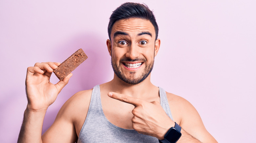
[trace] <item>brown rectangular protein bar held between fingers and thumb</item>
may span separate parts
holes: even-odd
[[[63,80],[71,71],[74,71],[88,57],[82,49],[77,50],[73,55],[62,62],[57,69],[53,70],[59,80]]]

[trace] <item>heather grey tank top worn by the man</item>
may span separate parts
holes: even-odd
[[[173,120],[166,97],[166,92],[159,87],[160,104]],[[100,88],[93,88],[89,110],[80,131],[78,143],[158,143],[153,136],[139,134],[135,130],[117,127],[105,117],[100,100]]]

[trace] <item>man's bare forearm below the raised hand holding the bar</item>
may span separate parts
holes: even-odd
[[[27,108],[25,110],[18,143],[42,142],[41,136],[45,113],[46,109],[32,111]]]

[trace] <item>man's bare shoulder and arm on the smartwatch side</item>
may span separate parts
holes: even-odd
[[[181,138],[177,143],[198,142],[217,143],[205,129],[203,121],[195,107],[184,98],[166,92],[173,119],[181,126]]]

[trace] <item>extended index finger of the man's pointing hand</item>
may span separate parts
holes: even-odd
[[[116,92],[109,92],[108,96],[113,98],[113,99],[117,99],[121,102],[132,104],[135,107],[144,102],[143,99],[127,96],[127,95],[124,95],[124,94],[119,94],[119,93],[116,93]]]

